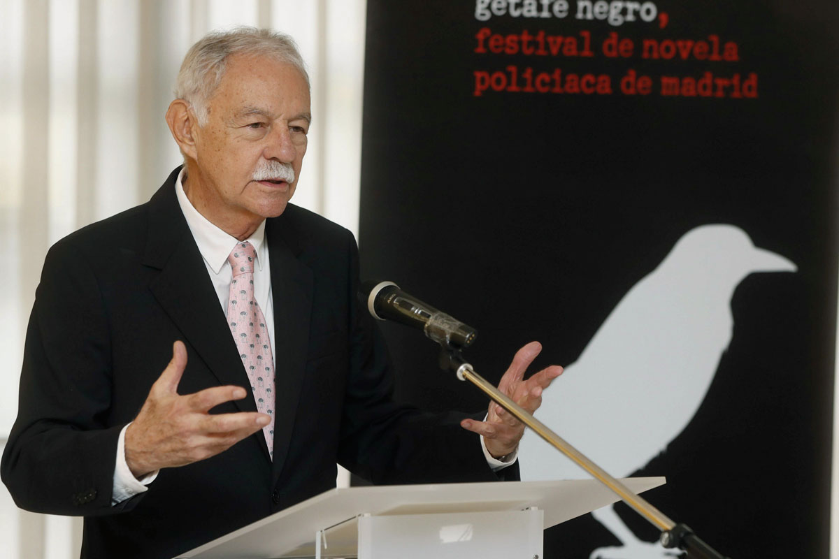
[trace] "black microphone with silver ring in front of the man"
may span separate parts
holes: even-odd
[[[363,282],[358,295],[373,318],[421,329],[427,338],[441,345],[465,348],[477,336],[471,326],[412,297],[393,282]]]

